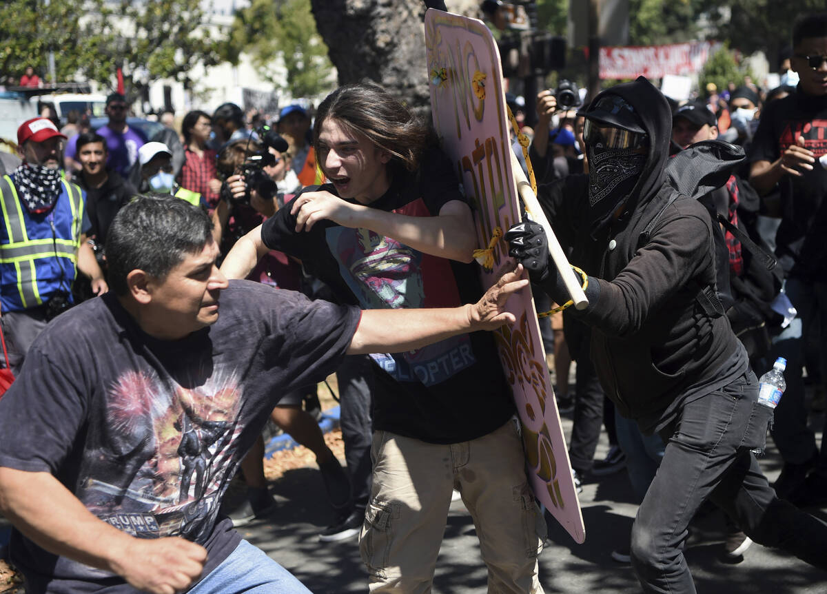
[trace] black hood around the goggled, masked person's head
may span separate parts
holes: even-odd
[[[605,95],[619,95],[624,98],[624,101],[634,108],[643,130],[649,137],[646,164],[643,165],[638,183],[634,185],[629,199],[626,200],[625,210],[633,211],[652,200],[663,184],[663,170],[669,159],[669,143],[672,141],[672,109],[669,108],[663,93],[643,76],[638,76],[638,79],[631,83],[618,84],[598,93],[590,103],[590,108]],[[586,117],[588,111],[589,109],[586,109],[584,112]],[[608,213],[601,220],[595,221],[592,232],[604,227],[611,218],[612,213]]]

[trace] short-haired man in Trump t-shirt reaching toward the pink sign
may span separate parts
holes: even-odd
[[[361,312],[228,283],[207,214],[171,196],[122,208],[107,254],[113,292],[50,323],[0,401],[0,511],[26,592],[307,594],[218,517],[280,395],[346,353],[513,323],[504,302],[527,284],[517,270],[474,305]]]

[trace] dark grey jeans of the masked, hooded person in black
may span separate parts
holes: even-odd
[[[632,527],[643,592],[696,592],[683,547],[700,505],[713,501],[755,542],[827,568],[827,525],[781,501],[750,452],[762,447],[770,410],[752,371],[681,407],[660,432],[667,443]]]

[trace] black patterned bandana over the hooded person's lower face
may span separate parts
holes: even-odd
[[[646,155],[632,149],[602,149],[587,146],[589,154],[589,204],[604,212],[624,199],[638,182]],[[604,204],[607,197],[609,200]]]

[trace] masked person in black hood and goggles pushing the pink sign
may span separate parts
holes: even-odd
[[[756,542],[827,568],[827,526],[778,500],[750,453],[763,447],[772,413],[758,405],[758,382],[720,307],[713,221],[693,198],[723,185],[743,151],[700,142],[667,167],[672,115],[643,77],[600,93],[582,114],[589,174],[542,186],[539,198],[587,276],[589,305],[572,314],[591,327],[606,395],[667,443],[632,529],[644,592],[696,592],[682,549],[707,499]],[[521,223],[506,239],[533,282],[566,302],[542,228]]]

